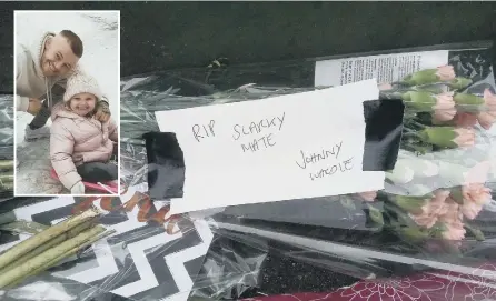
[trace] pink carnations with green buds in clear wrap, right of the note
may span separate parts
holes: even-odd
[[[492,201],[486,131],[496,121],[496,96],[463,92],[470,83],[443,66],[379,84],[383,99],[406,106],[400,151],[385,190],[360,195],[384,202],[381,211],[371,207],[371,219],[403,239],[443,245],[466,235],[484,239],[472,221]]]

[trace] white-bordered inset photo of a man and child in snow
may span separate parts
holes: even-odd
[[[14,11],[16,195],[119,193],[119,11]]]

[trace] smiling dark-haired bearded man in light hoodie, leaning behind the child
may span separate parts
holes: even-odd
[[[44,126],[50,109],[61,100],[67,78],[82,71],[79,67],[82,41],[70,30],[47,32],[31,46],[19,44],[17,52],[16,108],[34,116],[26,128],[24,139],[48,138],[50,129]],[[109,103],[103,98],[98,102],[97,118],[105,122],[109,117]]]

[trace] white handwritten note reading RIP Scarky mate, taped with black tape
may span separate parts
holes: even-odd
[[[378,190],[384,172],[363,171],[363,101],[376,80],[268,99],[156,112],[185,157],[182,213]]]

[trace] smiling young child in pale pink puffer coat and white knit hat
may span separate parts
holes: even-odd
[[[60,182],[71,194],[85,194],[82,181],[98,183],[118,180],[118,130],[110,118],[95,118],[102,93],[97,81],[78,72],[67,82],[63,103],[52,109],[50,160]]]

